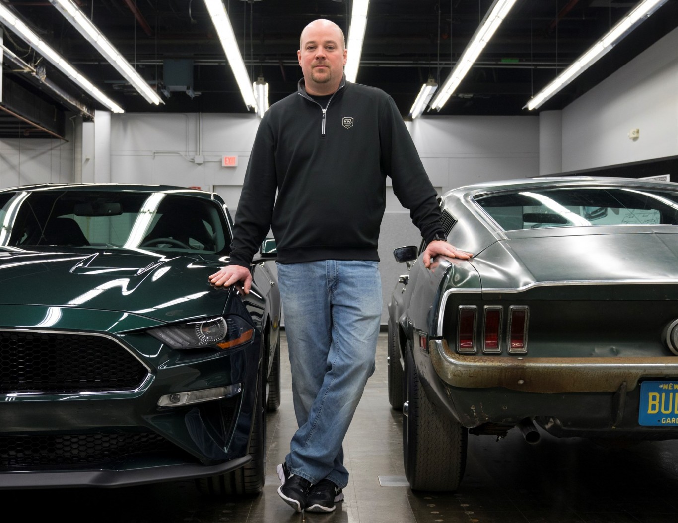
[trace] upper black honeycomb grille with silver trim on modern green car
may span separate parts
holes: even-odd
[[[0,394],[78,394],[140,388],[148,369],[114,339],[0,331]]]

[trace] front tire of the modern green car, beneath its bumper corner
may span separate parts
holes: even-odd
[[[260,377],[261,375],[262,373],[260,373]],[[259,390],[261,389],[262,387],[259,387]],[[195,480],[201,493],[215,496],[243,496],[258,494],[264,488],[266,477],[266,413],[264,413],[261,392],[257,394],[254,409],[252,437],[249,447],[252,461],[232,472]]]

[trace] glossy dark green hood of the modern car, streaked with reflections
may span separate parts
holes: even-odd
[[[0,304],[116,310],[174,322],[222,314],[223,262],[151,252],[0,251]]]

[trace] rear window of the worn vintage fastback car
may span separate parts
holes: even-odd
[[[476,196],[504,230],[678,225],[678,192],[633,187],[530,188]]]

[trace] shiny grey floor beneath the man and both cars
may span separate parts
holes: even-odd
[[[401,415],[386,394],[386,335],[377,370],[344,442],[351,482],[332,514],[296,514],[277,495],[275,466],[296,429],[287,347],[283,394],[268,415],[268,475],[261,495],[210,499],[193,482],[113,490],[0,491],[7,520],[322,523],[669,523],[678,521],[678,441],[603,448],[542,434],[528,445],[517,431],[496,442],[470,436],[468,463],[455,494],[413,493],[402,463]],[[15,516],[11,516],[14,513]],[[21,514],[21,516],[19,516]]]

